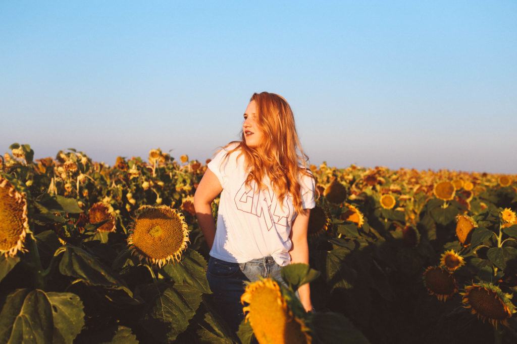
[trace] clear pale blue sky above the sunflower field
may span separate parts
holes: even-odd
[[[311,163],[517,173],[517,2],[0,1],[0,152],[204,162],[261,91]]]

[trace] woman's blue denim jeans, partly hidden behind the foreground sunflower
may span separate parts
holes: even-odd
[[[230,325],[231,331],[236,333],[239,324],[244,319],[240,297],[244,293],[246,285],[244,281],[258,281],[259,277],[272,277],[287,287],[287,283],[280,274],[281,266],[272,256],[252,259],[246,263],[231,263],[210,256],[206,278],[212,301],[219,311],[220,316]],[[300,299],[298,290],[296,297]]]

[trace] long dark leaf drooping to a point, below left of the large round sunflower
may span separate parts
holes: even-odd
[[[63,250],[63,258],[59,263],[59,271],[62,274],[75,277],[89,285],[121,289],[130,297],[133,296],[132,291],[126,284],[119,280],[110,268],[101,264],[93,255],[71,245],[67,245]]]

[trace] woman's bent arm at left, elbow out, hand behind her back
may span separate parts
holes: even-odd
[[[208,249],[212,249],[216,236],[216,224],[212,215],[212,201],[223,190],[219,179],[210,169],[206,169],[194,193],[194,209],[197,222],[205,236]]]

